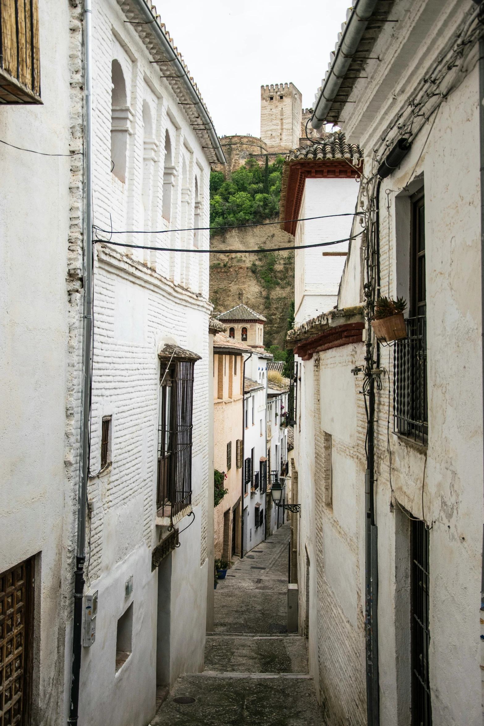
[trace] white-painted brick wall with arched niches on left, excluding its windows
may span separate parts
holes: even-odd
[[[115,231],[193,227],[198,192],[200,227],[206,227],[210,164],[179,99],[160,80],[136,28],[125,19],[110,0],[94,7],[94,219],[104,229],[112,223]],[[124,183],[110,171],[113,59],[123,70],[129,109]],[[167,132],[173,167],[169,221],[162,214]],[[113,241],[194,248],[193,235],[181,232],[113,235]],[[208,246],[208,234],[200,232],[197,241]],[[94,510],[87,525],[86,592],[98,590],[99,605],[96,642],[83,648],[79,706],[80,720],[93,725],[145,726],[155,714],[157,670],[158,685],[160,678],[163,685],[173,685],[180,674],[203,667],[208,560],[213,558],[208,543],[209,536],[213,541],[208,501],[209,470],[213,477],[208,374],[213,370],[207,295],[208,256],[97,245],[89,481]],[[180,547],[152,572],[152,549],[161,534],[156,513],[158,353],[165,343],[201,356],[194,364],[194,520],[184,517],[176,523]],[[106,415],[112,417],[112,464],[98,474]],[[210,492],[213,497],[212,487]],[[134,590],[125,598],[131,574]],[[116,673],[117,622],[131,600],[132,652]]]

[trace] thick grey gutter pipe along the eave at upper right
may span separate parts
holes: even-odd
[[[331,110],[333,102],[340,90],[346,71],[350,67],[353,56],[358,49],[363,33],[366,30],[369,19],[372,17],[378,0],[357,0],[351,11],[348,22],[343,30],[340,44],[337,46],[335,60],[332,62],[329,73],[324,81],[321,93],[319,94],[314,113],[311,116],[313,129],[321,129],[326,117]]]

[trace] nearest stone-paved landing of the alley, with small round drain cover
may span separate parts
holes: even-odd
[[[151,726],[324,726],[307,676],[182,676]],[[191,696],[194,703],[173,703]]]

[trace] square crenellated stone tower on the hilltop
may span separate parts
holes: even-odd
[[[294,83],[261,86],[261,139],[268,150],[298,147],[302,107],[303,97]]]

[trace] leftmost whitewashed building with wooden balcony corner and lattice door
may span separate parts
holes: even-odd
[[[65,723],[78,481],[66,468],[73,417],[68,314],[81,286],[68,247],[82,234],[80,210],[70,205],[83,168],[70,95],[81,48],[80,33],[69,30],[71,12],[54,0],[40,8],[1,4],[2,724]]]

